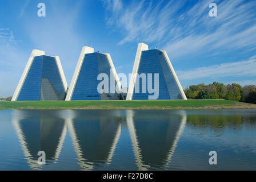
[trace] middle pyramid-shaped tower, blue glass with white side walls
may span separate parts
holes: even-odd
[[[104,93],[98,91],[98,84],[102,81],[98,80],[98,76],[101,73],[107,75],[109,84],[109,89],[105,88],[106,92]],[[118,92],[115,92],[116,87]],[[67,92],[66,101],[123,100],[119,90],[121,90],[121,84],[110,54],[94,52],[94,48],[83,47]]]

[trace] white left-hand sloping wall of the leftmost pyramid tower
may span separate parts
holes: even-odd
[[[29,57],[29,60],[27,61],[27,65],[22,73],[21,79],[19,80],[19,83],[17,85],[17,88],[15,89],[15,92],[13,94],[13,98],[11,98],[11,101],[17,101],[17,98],[19,96],[19,92],[21,92],[21,88],[24,84],[24,81],[26,80],[27,77],[27,73],[29,72],[29,69],[34,61],[34,57],[35,56],[43,56],[45,55],[45,51],[41,51],[38,49],[33,49],[33,51],[31,52],[31,55]]]

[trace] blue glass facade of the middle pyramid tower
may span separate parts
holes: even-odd
[[[83,58],[71,100],[119,100],[119,94],[110,93],[110,69],[106,55],[98,52],[87,53]],[[109,93],[98,93],[97,86],[101,81],[97,77],[100,73],[109,76]]]

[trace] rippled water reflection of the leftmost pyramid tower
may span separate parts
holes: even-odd
[[[38,151],[45,151],[47,162],[57,160],[61,152],[66,122],[54,112],[14,110],[13,125],[31,169],[41,168]]]

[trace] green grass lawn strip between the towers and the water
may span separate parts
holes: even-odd
[[[0,109],[256,109],[256,105],[226,100],[2,101]]]

